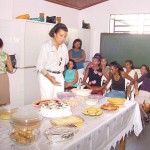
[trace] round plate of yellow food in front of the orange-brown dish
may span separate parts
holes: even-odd
[[[103,113],[103,111],[98,107],[91,106],[91,107],[87,107],[86,109],[84,109],[82,113],[84,115],[89,115],[89,116],[99,116]]]

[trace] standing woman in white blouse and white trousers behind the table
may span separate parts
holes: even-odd
[[[62,23],[56,24],[49,35],[51,40],[42,45],[37,69],[41,99],[55,98],[58,92],[64,91],[64,66],[68,63],[68,50],[64,41],[68,29]]]

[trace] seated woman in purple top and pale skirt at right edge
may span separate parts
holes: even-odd
[[[142,82],[143,81],[143,82]],[[138,89],[138,83],[142,82],[140,90]],[[150,72],[143,74],[136,82],[135,87],[135,100],[140,104],[140,108],[142,110],[142,114],[146,119],[148,119],[148,115],[144,112],[143,103],[147,103],[148,111],[150,111]]]

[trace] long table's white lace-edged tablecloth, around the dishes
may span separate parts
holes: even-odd
[[[106,101],[107,98],[101,99],[97,106],[101,106]],[[48,118],[42,120],[39,140],[29,146],[14,144],[8,136],[9,122],[0,120],[0,150],[109,150],[130,131],[133,130],[136,136],[142,131],[140,110],[135,101],[126,101],[116,111],[103,110],[100,116],[82,114],[86,107],[82,104],[72,109],[73,115],[78,115],[85,121],[75,136],[71,140],[53,144],[50,144],[44,135],[44,131],[52,126]],[[23,108],[28,110],[33,109],[34,106],[28,105]]]

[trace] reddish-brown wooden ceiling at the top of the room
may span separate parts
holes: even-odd
[[[81,10],[108,0],[46,0],[46,1]]]

